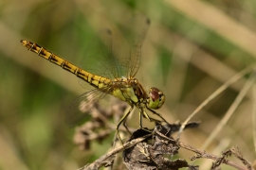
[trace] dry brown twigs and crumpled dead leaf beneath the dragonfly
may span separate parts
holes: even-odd
[[[194,124],[191,124],[191,126],[192,125],[194,126]],[[99,169],[102,166],[111,166],[113,165],[113,162],[116,158],[116,154],[122,152],[123,150],[123,161],[126,164],[126,167],[132,167],[132,169],[134,167],[136,167],[134,169],[137,169],[137,167],[157,167],[158,169],[166,169],[167,167],[169,169],[174,169],[177,167],[197,167],[190,165],[186,160],[168,160],[163,157],[163,155],[166,154],[174,156],[175,154],[178,153],[178,149],[180,147],[190,150],[196,154],[191,158],[192,161],[197,159],[213,160],[214,162],[211,167],[212,169],[219,167],[221,164],[224,163],[239,170],[253,169],[250,163],[246,159],[244,159],[243,154],[242,152],[239,151],[238,147],[232,147],[231,149],[222,152],[222,155],[218,157],[204,150],[199,150],[195,147],[192,147],[189,144],[184,144],[177,140],[174,140],[173,137],[169,137],[169,135],[172,135],[176,130],[179,129],[178,127],[179,125],[172,125],[171,127],[165,128],[159,124],[156,125],[152,133],[146,133],[147,135],[141,137],[138,136],[143,134],[143,130],[137,129],[137,131],[134,132],[133,136],[138,138],[135,138],[133,140],[131,139],[131,141],[128,141],[123,145],[117,146],[113,150],[101,156],[101,158],[98,159],[97,161],[87,164],[80,168],[79,170],[93,170]],[[151,140],[145,141],[146,139],[154,139],[154,142],[151,143]],[[227,158],[230,157],[231,155],[234,155],[246,166],[240,165],[237,162],[229,161]],[[152,162],[155,162],[155,164]]]

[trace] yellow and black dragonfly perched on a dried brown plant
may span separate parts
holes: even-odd
[[[135,24],[136,23],[136,24]],[[137,26],[138,23],[138,26]],[[149,121],[155,121],[150,117],[147,110],[157,115],[161,121],[168,122],[155,110],[160,109],[165,102],[165,95],[159,89],[152,87],[146,93],[137,78],[137,71],[141,59],[141,45],[150,25],[148,18],[142,18],[139,22],[134,19],[120,30],[114,32],[111,29],[101,31],[101,40],[96,41],[99,50],[88,54],[82,61],[82,66],[76,66],[66,59],[53,54],[46,48],[34,42],[21,40],[22,45],[28,51],[36,53],[38,56],[61,66],[64,70],[76,75],[80,79],[80,84],[89,90],[78,96],[68,109],[68,122],[76,123],[86,114],[81,110],[82,104],[86,105],[88,100],[99,101],[106,94],[112,94],[120,100],[130,105],[128,112],[120,118],[116,127],[119,136],[119,126],[126,126],[126,119],[132,110],[139,110],[139,127],[142,128],[142,116]],[[123,38],[119,33],[128,35]],[[89,52],[88,52],[89,53]],[[131,132],[130,132],[131,133]],[[120,136],[119,136],[119,140]],[[122,141],[121,141],[122,142]]]

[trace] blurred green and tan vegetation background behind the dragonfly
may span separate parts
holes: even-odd
[[[210,93],[256,59],[256,2],[252,0],[2,0],[0,2],[0,169],[76,169],[101,156],[108,143],[81,151],[64,112],[84,89],[76,76],[37,57],[20,40],[37,42],[79,64],[97,30],[115,16],[137,10],[151,19],[137,78],[145,89],[167,96],[159,110],[170,122],[184,121]],[[225,115],[246,78],[217,96],[192,120],[198,129],[181,141],[199,148]],[[249,91],[228,124],[206,150],[238,145],[255,159]],[[192,152],[180,150],[179,158]],[[210,161],[200,160],[200,169]],[[230,167],[223,167],[230,169]]]

